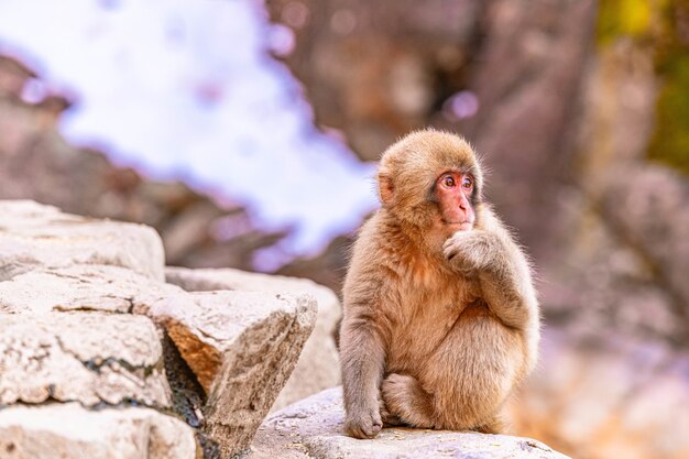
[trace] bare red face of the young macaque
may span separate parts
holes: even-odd
[[[451,231],[473,228],[475,212],[471,206],[473,176],[460,172],[446,172],[436,182],[436,198],[440,205],[442,223]]]

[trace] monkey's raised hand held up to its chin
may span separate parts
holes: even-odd
[[[496,267],[506,252],[497,234],[483,230],[457,231],[445,242],[442,250],[450,264],[466,275]]]

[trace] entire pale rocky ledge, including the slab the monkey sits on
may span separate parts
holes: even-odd
[[[0,201],[0,458],[562,458],[472,433],[344,437],[340,391],[318,393],[339,383],[339,314],[310,281],[166,269],[145,226]]]

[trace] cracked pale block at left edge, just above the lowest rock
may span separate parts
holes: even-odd
[[[0,404],[169,406],[161,342],[145,317],[0,315]]]

